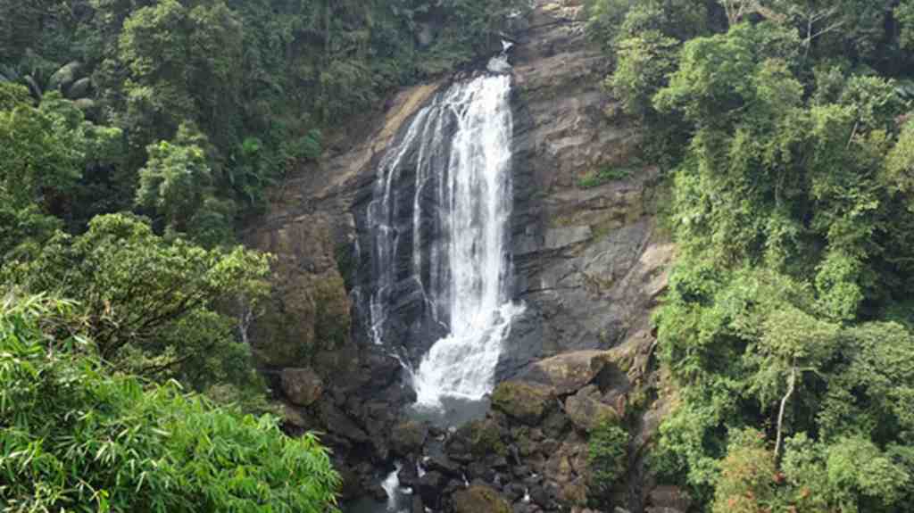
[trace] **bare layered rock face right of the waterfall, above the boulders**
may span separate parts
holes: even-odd
[[[537,4],[515,54],[515,296],[528,309],[503,377],[544,355],[620,343],[672,256],[654,222],[659,172],[639,161],[637,127],[611,116],[610,63],[586,41],[581,3]],[[605,168],[629,178],[584,187]]]

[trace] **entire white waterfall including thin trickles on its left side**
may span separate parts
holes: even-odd
[[[490,69],[504,70],[506,58],[497,59]],[[418,368],[408,364],[422,405],[491,392],[502,340],[522,308],[510,298],[510,92],[507,74],[452,85],[413,117],[378,165],[367,209],[369,329],[377,344],[402,342],[404,330],[395,335],[393,327],[403,324],[444,333]],[[422,310],[415,319],[398,319],[413,311],[392,306],[404,296],[421,305],[412,307]]]

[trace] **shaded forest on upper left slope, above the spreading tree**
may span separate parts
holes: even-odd
[[[0,192],[73,231],[135,207],[157,230],[230,242],[271,184],[321,155],[325,131],[490,54],[524,4],[3,0]]]

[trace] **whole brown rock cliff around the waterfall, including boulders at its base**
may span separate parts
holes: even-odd
[[[499,381],[509,381],[485,420],[455,434],[404,422],[398,407],[411,395],[399,362],[368,342],[358,311],[359,215],[375,167],[450,79],[400,91],[383,113],[335,134],[324,161],[283,183],[246,236],[276,256],[254,350],[286,402],[289,430],[328,433],[350,496],[383,497],[377,469],[395,456],[417,461],[437,441],[440,468],[421,482],[414,466],[400,471],[401,483],[416,484],[420,508],[466,510],[492,494],[494,510],[505,500],[531,513],[584,506],[588,429],[608,415],[634,434],[630,486],[615,491],[616,503],[650,504],[639,469],[664,404],[645,392],[656,379],[649,315],[674,250],[654,216],[659,173],[640,162],[637,129],[611,116],[601,88],[610,63],[588,43],[579,2],[535,4],[512,34],[514,294],[527,309],[499,363]],[[635,395],[637,407],[627,406]],[[454,496],[463,475],[473,487]],[[422,490],[436,504],[423,506]]]

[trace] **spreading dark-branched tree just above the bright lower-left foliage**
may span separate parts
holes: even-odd
[[[268,257],[255,252],[207,250],[156,236],[130,215],[101,215],[86,234],[55,236],[35,260],[7,267],[5,277],[79,301],[105,361],[205,390],[222,380],[256,384],[252,367],[239,366],[250,348],[239,345],[236,320],[224,312],[239,300],[256,305],[268,272]]]

